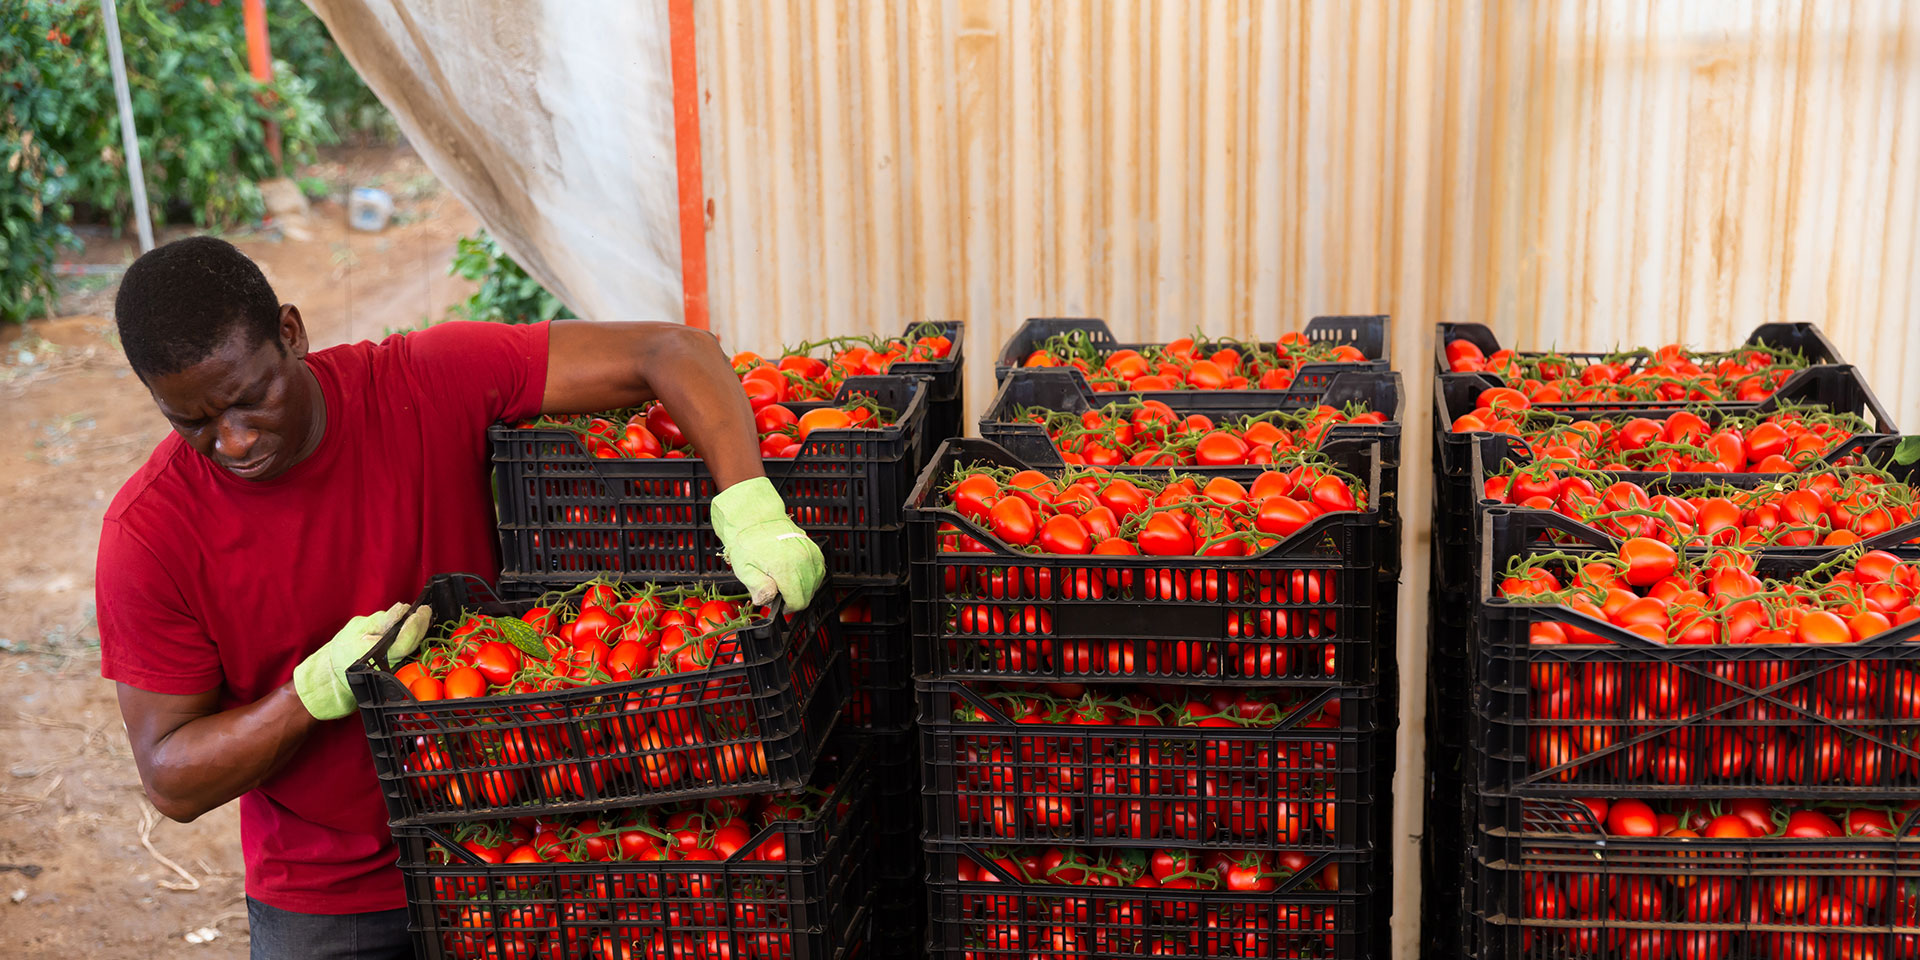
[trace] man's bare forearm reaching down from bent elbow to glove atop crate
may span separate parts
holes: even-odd
[[[653,394],[666,403],[720,490],[766,476],[753,405],[714,338],[662,336],[645,371]]]

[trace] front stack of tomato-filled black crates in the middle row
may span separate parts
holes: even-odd
[[[931,956],[1384,943],[1379,445],[1323,445],[1357,509],[1221,555],[1173,555],[1175,499],[1098,553],[1073,541],[1064,516],[1133,516],[1144,474],[1089,490],[991,442],[935,455],[908,503]]]

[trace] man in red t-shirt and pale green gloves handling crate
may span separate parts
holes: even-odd
[[[432,574],[497,576],[488,424],[660,399],[741,582],[804,607],[826,572],[701,330],[449,323],[309,353],[300,309],[215,238],[134,261],[115,313],[173,436],[100,532],[100,672],[159,812],[240,799],[255,960],[413,952],[344,670]]]

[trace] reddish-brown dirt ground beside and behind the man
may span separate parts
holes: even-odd
[[[472,292],[447,263],[478,223],[411,152],[340,152],[303,173],[332,198],[348,184],[396,196],[378,234],[348,230],[336,200],[227,234],[300,305],[317,348],[440,319]],[[132,253],[100,232],[75,261]],[[100,678],[100,516],[167,426],[113,338],[113,276],[83,269],[69,286],[65,317],[0,328],[0,497],[13,505],[0,534],[0,956],[240,958],[238,812],[159,818]]]

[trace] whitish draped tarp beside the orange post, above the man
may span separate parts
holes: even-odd
[[[307,0],[426,165],[588,319],[682,319],[666,4]]]

